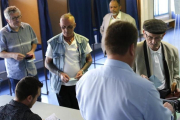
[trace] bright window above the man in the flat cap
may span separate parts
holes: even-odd
[[[161,16],[169,13],[169,0],[154,0],[154,16]]]

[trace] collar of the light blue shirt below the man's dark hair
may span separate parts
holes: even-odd
[[[104,65],[119,67],[133,72],[132,68],[125,62],[107,58]]]

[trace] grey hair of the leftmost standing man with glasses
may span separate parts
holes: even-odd
[[[10,20],[10,15],[12,13],[20,13],[21,14],[21,11],[16,7],[16,6],[10,6],[10,7],[7,7],[5,10],[4,10],[4,17],[8,20]]]

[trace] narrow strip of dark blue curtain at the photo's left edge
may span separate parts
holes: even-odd
[[[2,26],[6,26],[7,22],[6,19],[4,17],[4,10],[9,7],[9,3],[8,0],[1,0],[1,17],[2,17]]]

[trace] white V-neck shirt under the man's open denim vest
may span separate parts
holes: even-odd
[[[71,45],[69,45],[65,40],[63,41],[65,44],[65,62],[64,62],[63,72],[68,74],[70,78],[74,79],[78,71],[81,69],[79,64],[80,61],[79,61],[79,52],[77,49],[77,43],[75,39],[73,40]],[[87,55],[91,51],[92,49],[88,43],[85,50],[85,54]],[[48,44],[46,56],[52,58],[52,55],[53,55],[52,47],[50,44]],[[76,85],[76,83],[77,83],[76,80],[72,80],[69,81],[68,83],[62,83],[62,85],[73,86]]]

